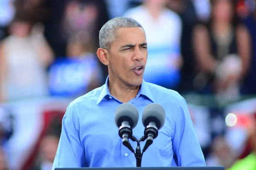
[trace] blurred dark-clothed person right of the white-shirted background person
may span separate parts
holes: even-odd
[[[195,54],[192,49],[192,33],[198,23],[195,5],[192,0],[169,0],[167,6],[180,15],[182,20],[182,33],[180,42],[183,65],[180,71],[179,93],[187,94],[195,91],[193,80],[195,78]]]

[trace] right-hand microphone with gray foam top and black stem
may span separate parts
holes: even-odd
[[[153,139],[158,136],[158,130],[163,127],[166,113],[164,108],[156,103],[151,103],[144,108],[142,123],[145,127],[144,136],[147,139],[142,152],[153,143]]]

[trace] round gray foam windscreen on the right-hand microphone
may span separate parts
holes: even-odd
[[[156,122],[156,127],[160,130],[165,122],[166,113],[164,108],[157,103],[146,105],[142,115],[142,123],[146,127],[149,122]]]

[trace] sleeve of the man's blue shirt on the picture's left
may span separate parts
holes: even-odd
[[[62,119],[61,137],[52,170],[56,167],[85,167],[84,147],[79,138],[79,119],[68,106]]]

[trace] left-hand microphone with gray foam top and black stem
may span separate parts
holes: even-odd
[[[116,108],[115,123],[119,128],[119,136],[122,138],[122,144],[134,152],[129,139],[132,138],[132,129],[137,125],[139,112],[131,103],[123,103]]]

